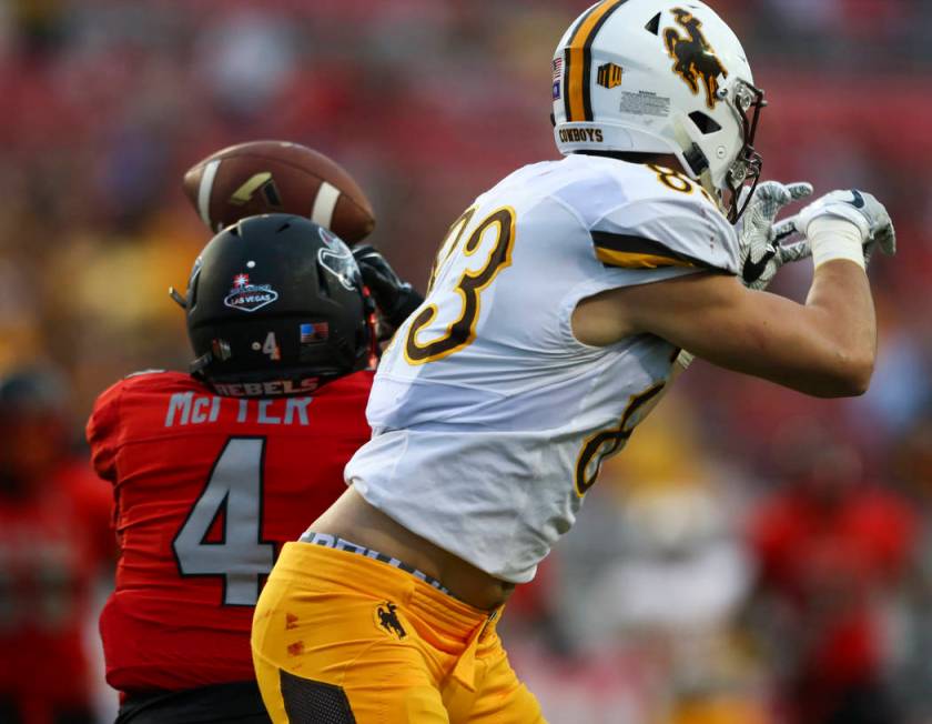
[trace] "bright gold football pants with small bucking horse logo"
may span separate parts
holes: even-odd
[[[275,724],[545,724],[494,614],[357,553],[287,543],[252,648]]]

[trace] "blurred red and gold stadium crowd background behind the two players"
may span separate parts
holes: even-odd
[[[870,190],[896,223],[899,255],[871,268],[874,382],[825,402],[697,363],[515,599],[506,643],[555,724],[932,722],[932,2],[709,1],[767,90],[764,175]],[[587,4],[0,0],[0,373],[63,371],[80,461],[101,390],[184,369],[165,290],[207,234],[181,174],[245,140],[343,163],[423,290],[450,220],[555,157],[550,57]],[[0,581],[38,543],[10,530]],[[65,583],[45,595],[89,582]],[[38,624],[11,591],[0,698],[50,665],[16,643]]]

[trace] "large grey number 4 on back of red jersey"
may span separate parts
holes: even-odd
[[[275,562],[275,546],[260,530],[264,452],[264,438],[227,440],[172,543],[181,575],[223,576],[226,605],[255,605],[260,579]],[[209,542],[221,515],[220,541]]]

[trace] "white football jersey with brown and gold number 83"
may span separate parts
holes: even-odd
[[[591,155],[516,171],[452,227],[382,358],[347,483],[478,569],[530,581],[678,352],[650,334],[582,344],[574,309],[702,270],[737,274],[738,239],[681,174]]]

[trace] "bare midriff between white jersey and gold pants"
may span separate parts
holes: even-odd
[[[311,525],[391,555],[437,579],[457,599],[476,609],[497,609],[515,590],[514,583],[496,579],[429,541],[412,533],[350,487]]]

